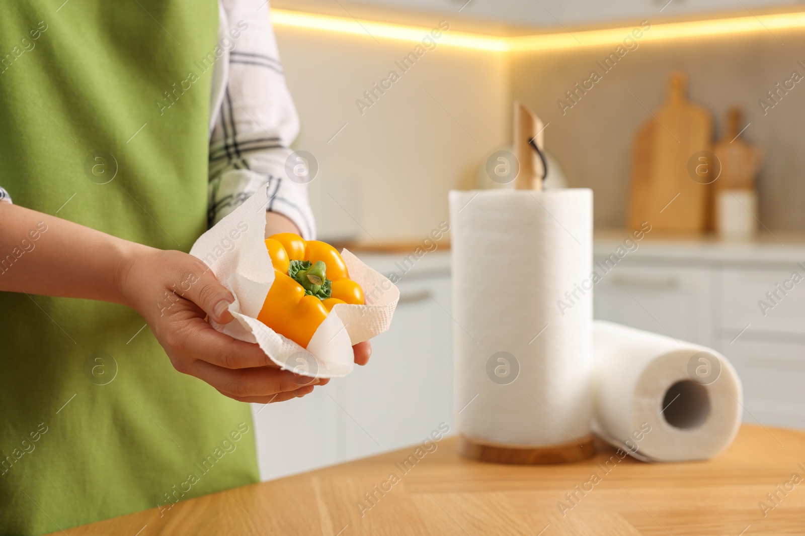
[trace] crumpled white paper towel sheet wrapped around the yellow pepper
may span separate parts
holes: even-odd
[[[213,269],[217,279],[235,296],[229,311],[235,320],[218,331],[246,342],[256,342],[271,361],[296,374],[337,378],[353,370],[353,344],[368,341],[389,329],[399,291],[390,280],[369,268],[352,253],[341,256],[349,277],[361,285],[366,305],[338,304],[316,329],[307,350],[258,321],[257,316],[274,282],[274,268],[265,243],[268,187],[221,219],[193,244],[190,254]]]

